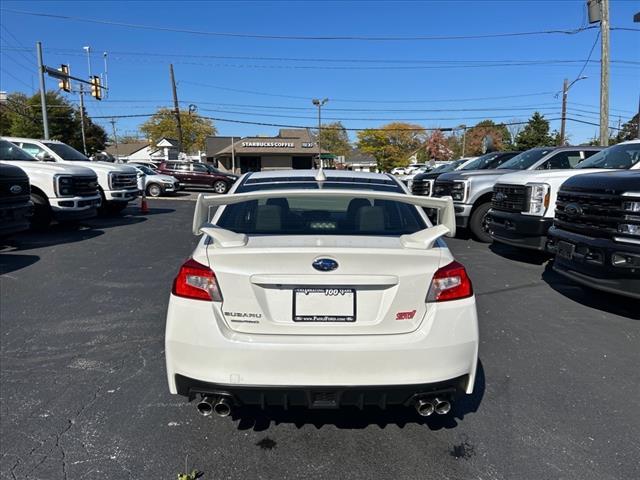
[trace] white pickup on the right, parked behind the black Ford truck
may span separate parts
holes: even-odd
[[[495,242],[546,250],[558,190],[569,178],[586,173],[640,169],[640,140],[602,150],[565,170],[526,170],[500,177],[493,187],[487,226]]]

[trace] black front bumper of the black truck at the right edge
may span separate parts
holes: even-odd
[[[547,250],[556,253],[560,241],[574,245],[575,251],[571,259],[556,255],[553,262],[556,272],[581,285],[640,299],[640,246],[551,227]],[[612,259],[616,254],[634,259],[638,267],[614,266]]]

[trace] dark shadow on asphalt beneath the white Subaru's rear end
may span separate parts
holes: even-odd
[[[381,410],[367,407],[359,410],[355,407],[340,410],[309,410],[306,408],[267,408],[261,410],[253,407],[242,407],[233,411],[232,418],[238,421],[238,430],[268,430],[271,424],[293,424],[297,428],[313,425],[321,428],[333,425],[341,429],[357,430],[370,425],[385,428],[396,425],[404,428],[407,424],[426,425],[430,430],[450,429],[458,426],[458,421],[469,413],[477,412],[485,391],[485,375],[482,362],[478,362],[476,383],[473,394],[462,395],[453,405],[452,413],[448,415],[433,414],[429,417],[419,416],[413,407],[389,407]]]

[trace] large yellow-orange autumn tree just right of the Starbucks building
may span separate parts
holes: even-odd
[[[407,164],[408,157],[425,141],[425,131],[420,125],[389,123],[379,129],[358,132],[357,147],[372,155],[378,169],[388,172]]]

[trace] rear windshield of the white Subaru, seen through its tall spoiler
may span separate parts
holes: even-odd
[[[217,225],[257,235],[398,236],[427,227],[413,205],[331,195],[274,197],[228,205]]]

